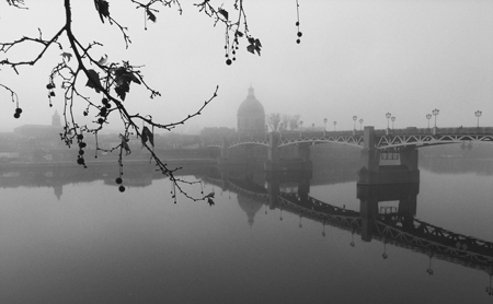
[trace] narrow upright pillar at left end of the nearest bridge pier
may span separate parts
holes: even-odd
[[[366,126],[363,132],[363,151],[358,172],[362,184],[371,184],[378,182],[378,172],[380,164],[380,151],[375,148],[375,129],[372,126]]]

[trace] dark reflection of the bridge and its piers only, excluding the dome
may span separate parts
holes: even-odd
[[[225,175],[223,175],[225,176]],[[275,176],[275,175],[274,175]],[[325,225],[359,234],[362,239],[411,249],[490,273],[493,267],[493,243],[458,234],[414,219],[419,184],[358,185],[360,210],[354,211],[325,203],[308,195],[307,182],[299,180],[297,194],[278,191],[278,180],[267,178],[267,188],[241,179],[206,178],[239,195],[250,197],[271,209],[279,209]],[[379,201],[398,200],[395,210],[378,210]],[[390,212],[389,212],[390,211]],[[324,234],[324,232],[323,232]],[[352,243],[353,244],[353,243]],[[383,253],[386,258],[387,254]],[[428,269],[431,272],[432,270]]]

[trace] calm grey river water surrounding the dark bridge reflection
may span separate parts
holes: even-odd
[[[358,211],[356,173],[328,166],[314,166],[309,195]],[[111,172],[1,176],[0,303],[493,303],[486,271],[364,242],[207,171],[182,178],[204,180],[211,207],[173,203],[164,178],[136,177],[119,194]],[[250,177],[265,185],[262,173]],[[492,242],[492,175],[422,166],[415,218]]]

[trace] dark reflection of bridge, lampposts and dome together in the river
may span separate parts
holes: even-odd
[[[383,243],[382,258],[387,259],[387,245],[419,253],[428,257],[426,272],[432,276],[433,259],[461,265],[489,274],[490,282],[486,292],[492,295],[493,276],[493,242],[463,235],[445,227],[426,223],[415,218],[417,195],[420,192],[419,176],[404,171],[382,171],[385,177],[380,183],[368,184],[365,173],[358,172],[356,196],[359,199],[359,210],[346,209],[316,199],[309,195],[311,171],[300,172],[254,172],[250,167],[243,169],[221,167],[216,176],[206,180],[220,185],[222,190],[236,192],[238,201],[248,214],[250,225],[262,207],[279,210],[299,217],[299,227],[302,219],[322,223],[322,235],[325,226],[337,227],[351,232],[351,246],[355,246],[354,235],[360,235],[362,241],[376,239]],[[419,175],[419,172],[417,172]],[[256,177],[256,178],[255,178]],[[381,182],[385,180],[385,182]],[[283,191],[283,184],[296,184],[296,191]],[[397,201],[397,206],[379,206],[380,202]],[[265,211],[266,213],[267,211]]]

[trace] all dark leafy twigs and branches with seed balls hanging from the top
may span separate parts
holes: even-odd
[[[31,84],[31,85],[44,85],[47,90],[47,96],[49,100],[49,106],[51,106],[51,98],[56,95],[55,89],[61,89],[64,92],[64,122],[61,130],[61,140],[68,147],[76,145],[79,149],[79,155],[77,162],[85,167],[84,148],[87,143],[84,138],[88,135],[93,135],[96,139],[96,150],[119,153],[119,176],[116,178],[116,183],[121,184],[119,190],[124,191],[123,186],[123,159],[124,155],[129,154],[128,141],[130,139],[138,138],[141,141],[144,148],[146,148],[151,160],[156,163],[158,168],[170,177],[174,186],[182,191],[181,183],[186,183],[174,177],[175,169],[170,169],[165,163],[163,163],[153,152],[153,129],[160,128],[164,130],[172,130],[179,125],[183,125],[193,117],[200,115],[203,109],[217,96],[218,86],[214,90],[211,96],[204,103],[204,105],[195,113],[192,113],[184,117],[180,121],[174,122],[161,122],[152,119],[151,115],[145,115],[140,113],[134,113],[128,109],[124,104],[126,96],[130,92],[130,85],[141,85],[149,92],[149,97],[154,98],[160,96],[160,93],[150,87],[145,81],[140,67],[131,65],[129,61],[113,62],[110,60],[112,56],[96,56],[95,49],[103,48],[103,44],[100,42],[85,42],[82,37],[78,36],[72,31],[72,7],[70,0],[64,1],[49,1],[47,5],[64,5],[65,22],[59,25],[59,30],[56,33],[44,33],[42,28],[38,30],[38,36],[28,37],[22,36],[16,40],[0,43],[0,54],[4,54],[0,57],[0,68],[8,67],[13,69],[19,74],[19,68],[24,66],[34,66],[43,59],[48,49],[58,48],[60,52],[59,62],[53,68],[48,75],[47,83]],[[131,40],[128,35],[128,28],[115,20],[111,14],[110,2],[106,0],[93,0],[93,3],[85,1],[88,5],[94,5],[95,14],[99,14],[101,24],[89,24],[93,27],[93,31],[98,31],[100,26],[116,26],[123,36],[126,47],[128,48]],[[26,9],[24,0],[7,0],[7,3],[15,9]],[[182,13],[182,7],[179,0],[128,0],[128,1],[113,1],[113,5],[129,4],[133,9],[141,10],[145,14],[145,27],[147,28],[147,22],[156,22],[158,5],[163,8],[175,8],[179,13]],[[229,12],[220,8],[214,8],[209,0],[195,3],[194,7],[202,13],[205,13],[214,21],[214,26],[221,24],[225,26],[226,36],[226,63],[231,65],[236,60],[237,50],[240,45],[240,39],[244,39],[246,44],[246,50],[260,55],[262,44],[259,38],[253,37],[248,27],[246,15],[243,8],[242,0],[234,0],[233,8],[236,16],[231,17]],[[2,11],[5,13],[15,13],[14,11]],[[47,19],[51,17],[50,14],[46,15]],[[25,20],[20,20],[25,22]],[[299,25],[299,23],[297,24]],[[5,32],[3,32],[5,31]],[[2,33],[7,33],[5,28],[2,28]],[[46,35],[47,34],[47,35]],[[46,37],[47,36],[47,37]],[[301,33],[298,33],[301,36]],[[0,34],[1,40],[1,34]],[[299,40],[298,40],[299,43]],[[14,55],[18,46],[32,44],[35,47],[39,47],[37,56],[34,58],[22,59],[9,59],[8,55]],[[15,54],[16,55],[16,54]],[[15,57],[18,58],[18,57]],[[0,70],[1,73],[1,70]],[[11,101],[15,104],[14,117],[20,118],[22,114],[21,101],[19,95],[11,85],[5,83],[4,78],[0,82],[0,87],[7,90],[11,96]],[[80,85],[82,84],[82,85]],[[88,86],[85,91],[82,90],[83,85]],[[93,91],[98,94],[99,98],[94,100],[88,96],[89,91]],[[58,92],[58,91],[57,91]],[[77,113],[73,113],[76,104],[83,104],[84,116],[94,117],[94,125],[83,125],[77,121]],[[111,149],[102,149],[102,145],[98,143],[98,133],[105,128],[110,121],[110,117],[118,117],[123,121],[123,130],[119,135],[119,144]],[[183,191],[182,191],[183,192]],[[188,197],[187,194],[183,192]],[[173,195],[174,197],[174,195]],[[190,197],[192,198],[192,197]],[[208,197],[202,197],[198,199],[206,199]],[[197,200],[196,198],[192,198]]]

